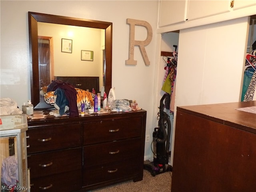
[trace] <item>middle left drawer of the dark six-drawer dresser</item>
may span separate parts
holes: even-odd
[[[29,155],[28,168],[31,178],[81,169],[82,148]]]

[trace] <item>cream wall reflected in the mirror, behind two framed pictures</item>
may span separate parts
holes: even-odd
[[[53,37],[54,76],[101,78],[101,31],[102,29],[38,22],[38,36]],[[61,51],[62,38],[72,40],[71,54]],[[81,50],[93,51],[93,61],[81,60]]]

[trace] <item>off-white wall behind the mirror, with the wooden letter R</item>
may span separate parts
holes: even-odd
[[[156,67],[156,28],[158,1],[0,1],[1,58],[0,98],[12,98],[21,107],[30,99],[30,60],[28,11],[113,23],[112,86],[117,99],[137,100],[147,110],[146,134],[152,135],[152,101]],[[145,66],[140,50],[134,49],[136,66],[126,66],[129,25],[126,19],[145,20],[152,26],[153,38],[146,46],[150,66]],[[146,28],[136,27],[136,40],[146,39]],[[150,143],[145,155],[152,156]]]

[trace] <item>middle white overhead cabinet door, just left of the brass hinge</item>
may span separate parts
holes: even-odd
[[[230,0],[190,0],[188,21],[229,12]]]

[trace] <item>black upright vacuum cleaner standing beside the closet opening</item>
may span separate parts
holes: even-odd
[[[153,132],[153,162],[144,163],[144,169],[148,170],[152,176],[161,174],[167,171],[172,171],[172,166],[169,162],[169,148],[171,135],[171,122],[169,115],[164,112],[164,99],[167,94],[164,94],[160,100],[158,127],[154,128]]]

